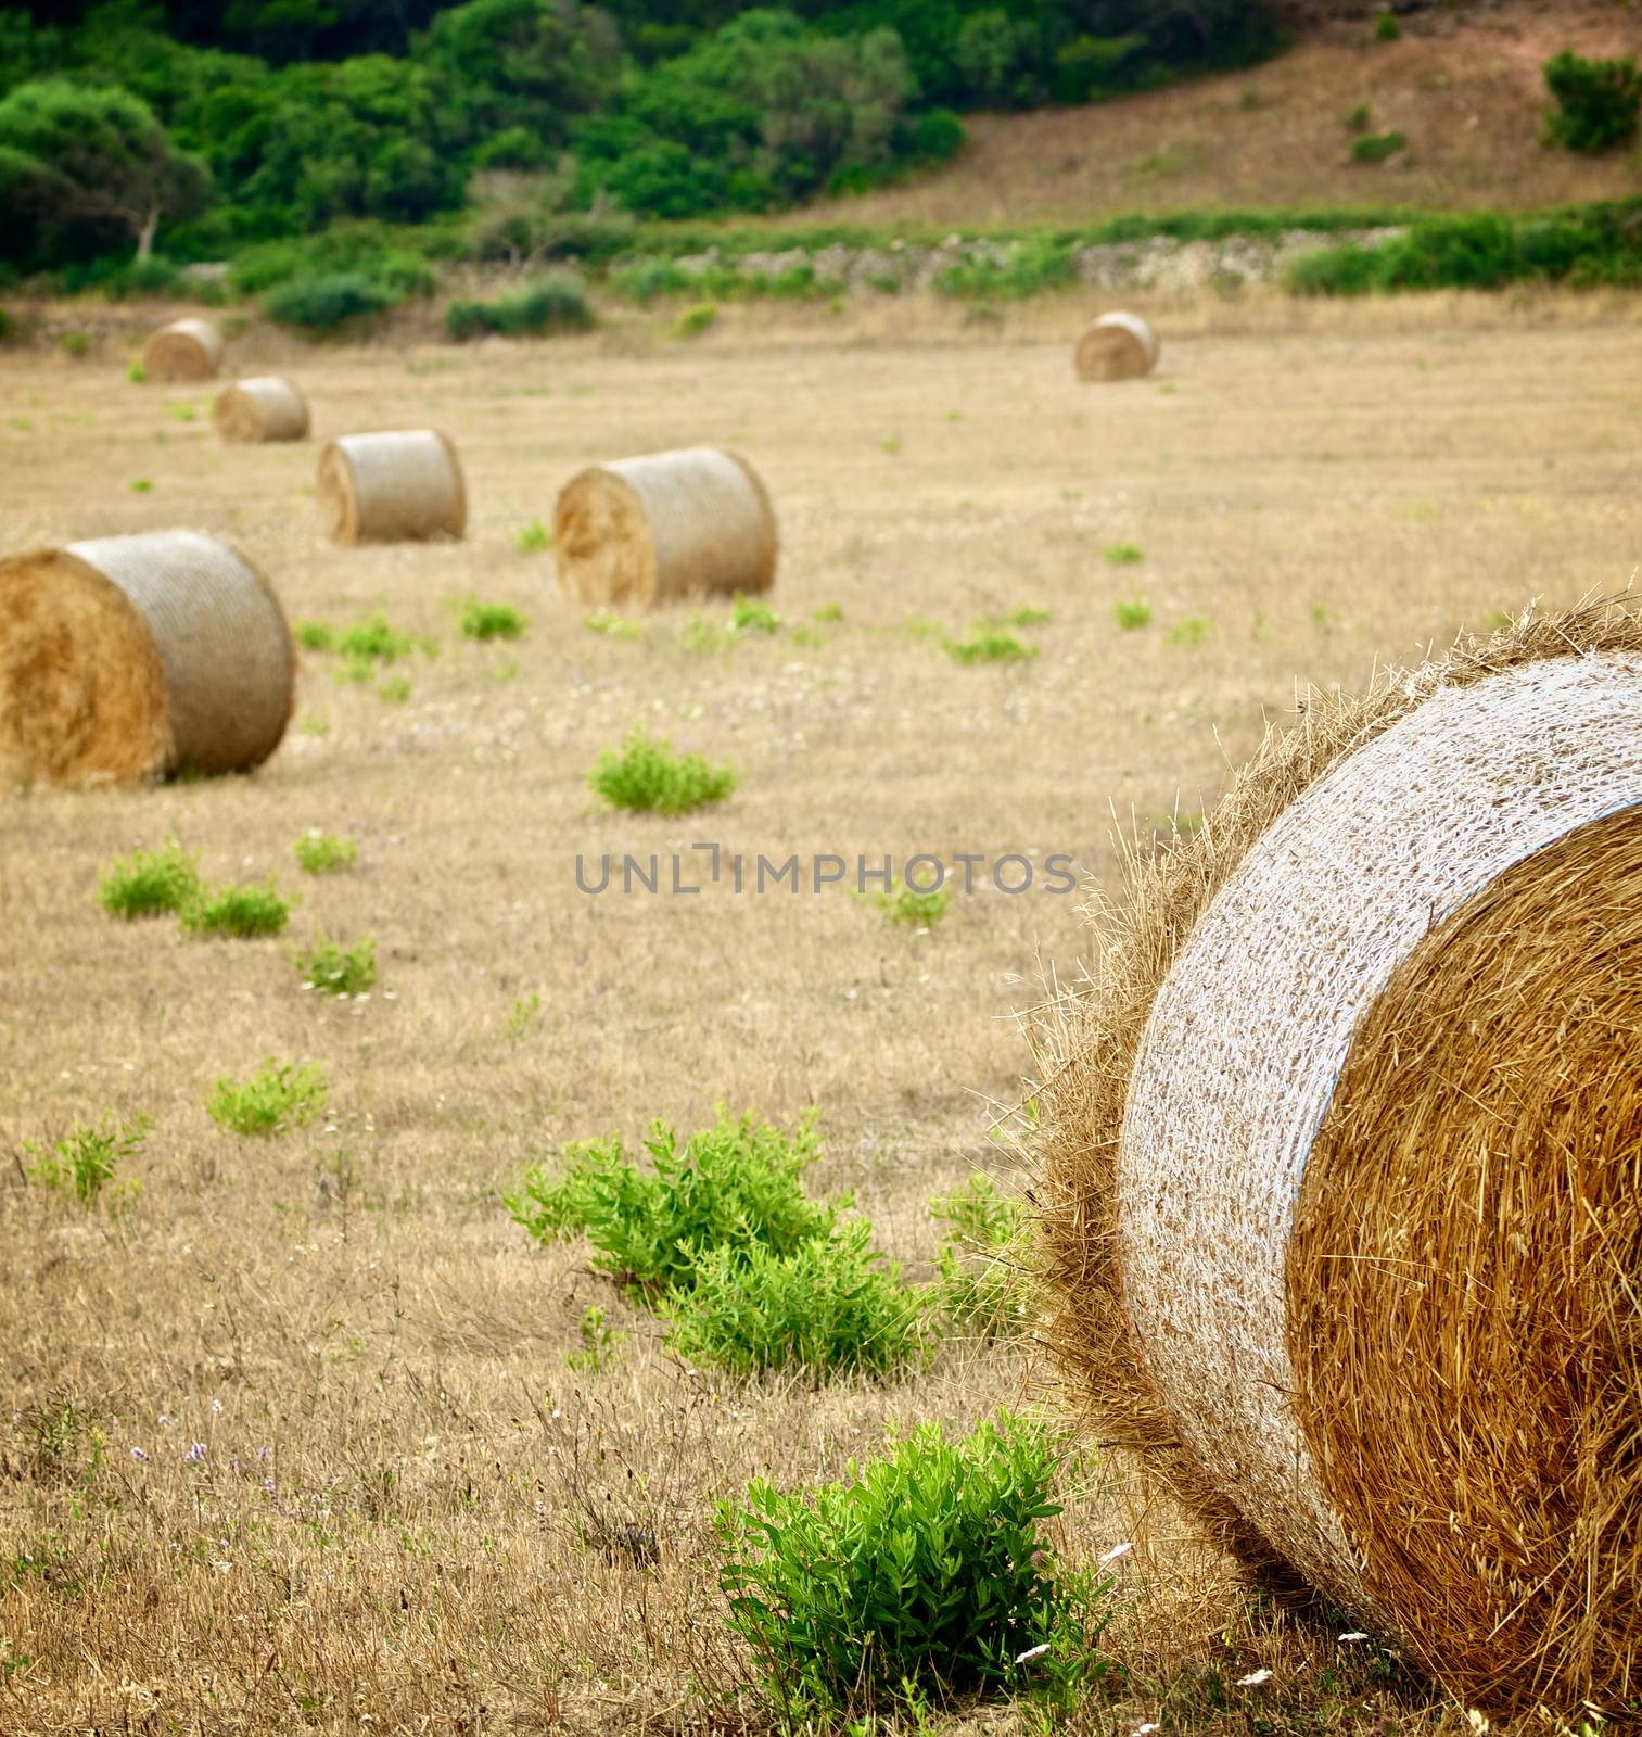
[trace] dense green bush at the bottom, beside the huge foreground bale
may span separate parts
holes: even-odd
[[[1055,1562],[1041,1522],[1057,1449],[1000,1416],[960,1442],[920,1424],[849,1476],[724,1504],[720,1584],[765,1695],[791,1728],[1019,1694],[1071,1702],[1100,1678],[1104,1584]]]

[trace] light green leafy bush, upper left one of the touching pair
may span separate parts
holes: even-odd
[[[647,1292],[694,1282],[698,1263],[715,1249],[791,1254],[833,1230],[833,1205],[804,1193],[804,1171],[816,1160],[814,1117],[791,1134],[720,1112],[713,1127],[691,1134],[656,1122],[640,1171],[620,1139],[573,1145],[555,1172],[535,1166],[519,1193],[503,1204],[540,1242],[585,1232],[599,1251],[594,1266]]]

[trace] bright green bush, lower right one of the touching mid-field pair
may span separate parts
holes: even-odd
[[[925,1351],[923,1298],[868,1251],[856,1221],[786,1254],[764,1244],[703,1252],[661,1303],[675,1357],[734,1376],[887,1376]]]

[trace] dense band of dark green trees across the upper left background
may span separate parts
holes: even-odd
[[[1272,52],[1246,0],[106,0],[0,12],[0,257],[222,257],[481,177],[635,217],[944,162],[962,111]]]

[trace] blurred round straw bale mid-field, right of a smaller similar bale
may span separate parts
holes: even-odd
[[[554,505],[559,585],[580,603],[649,608],[769,591],[778,545],[759,472],[717,446],[592,466]]]

